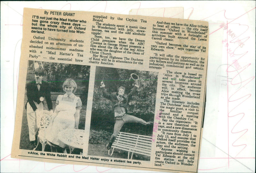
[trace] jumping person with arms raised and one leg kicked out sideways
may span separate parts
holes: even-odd
[[[105,89],[105,84],[102,81],[100,83],[102,89],[103,97],[106,97],[112,102],[112,108],[115,116],[115,126],[114,132],[109,140],[107,145],[108,150],[111,148],[112,143],[115,141],[117,134],[121,130],[124,123],[141,123],[144,125],[151,125],[153,122],[146,122],[143,119],[127,114],[127,105],[129,100],[132,98],[132,95],[135,94],[136,90],[139,88],[138,81],[133,83],[133,89],[129,94],[124,94],[125,88],[123,86],[119,87],[117,92],[108,94]]]

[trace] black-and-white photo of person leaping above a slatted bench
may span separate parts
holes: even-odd
[[[88,155],[150,161],[157,77],[96,67]]]

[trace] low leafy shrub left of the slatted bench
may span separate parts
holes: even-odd
[[[106,144],[108,143],[112,133],[105,130],[90,130],[89,143],[90,144]]]

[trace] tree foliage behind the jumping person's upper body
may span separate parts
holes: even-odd
[[[102,67],[97,67],[102,68]],[[96,68],[96,71],[99,69]],[[105,68],[106,69],[106,68]],[[116,92],[118,87],[125,87],[125,94],[128,94],[133,88],[133,80],[129,80],[132,73],[137,74],[140,77],[138,81],[140,83],[140,88],[137,90],[137,93],[132,96],[132,99],[128,103],[128,111],[145,114],[145,113],[154,113],[155,112],[155,103],[156,103],[156,88],[157,88],[157,72],[149,71],[140,71],[140,70],[128,70],[128,69],[118,69],[116,68],[113,71],[112,76],[108,74],[108,77],[105,77],[103,80],[108,93]],[[97,76],[97,74],[96,74]],[[101,79],[95,78],[95,87],[93,93],[93,107],[92,111],[95,113],[109,113],[113,112],[112,103],[103,97],[102,91],[100,89],[100,81],[104,76],[101,76]],[[117,78],[118,77],[118,78]],[[107,82],[106,82],[107,81]]]

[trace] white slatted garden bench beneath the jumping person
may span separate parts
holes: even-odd
[[[132,134],[119,132],[116,136],[116,140],[112,144],[112,153],[110,154],[110,150],[108,150],[108,155],[112,155],[115,148],[128,151],[128,159],[130,157],[130,152],[137,153],[141,155],[151,155],[151,145],[152,145],[152,137],[145,136],[140,134]],[[132,155],[131,158],[132,159]]]

